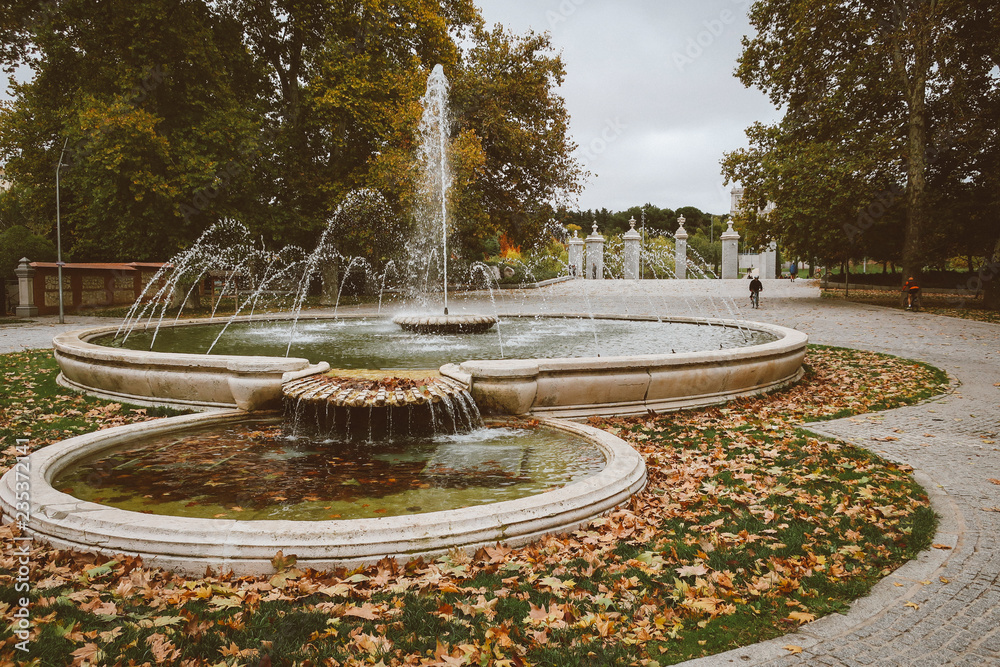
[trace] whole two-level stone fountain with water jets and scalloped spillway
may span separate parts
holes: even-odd
[[[445,313],[400,322],[400,326],[424,337],[467,336],[486,331],[495,323],[494,318],[480,316],[454,319],[447,312],[446,93],[447,80],[443,71],[435,68],[425,96],[427,122],[423,127],[426,134],[436,137],[437,143],[431,142],[424,155],[425,165],[431,165],[426,167],[428,173],[434,174],[428,181],[435,184],[432,190],[436,198],[429,200],[437,215],[430,219],[440,232]],[[436,158],[431,160],[430,155]],[[335,214],[342,217],[337,224],[363,219],[364,212],[374,210],[368,203],[367,196],[351,198]],[[452,363],[430,372],[376,370],[368,374],[357,368],[331,372],[331,364],[325,360],[298,358],[290,352],[310,326],[338,332],[345,322],[367,324],[361,316],[317,318],[300,312],[313,272],[334,256],[327,243],[328,232],[334,226],[328,226],[317,248],[309,253],[293,249],[264,252],[247,240],[249,235],[238,225],[213,228],[194,248],[172,262],[174,274],[164,276],[162,286],[156,281],[150,284],[121,327],[76,331],[54,339],[60,382],[66,386],[129,403],[213,411],[107,429],[32,454],[30,467],[35,479],[31,507],[26,513],[32,535],[61,548],[138,554],[150,565],[190,574],[203,573],[210,566],[238,575],[271,572],[271,560],[279,550],[295,554],[300,566],[322,569],[371,563],[385,557],[405,559],[454,548],[474,549],[498,541],[523,544],[586,524],[626,501],[646,482],[644,463],[633,448],[606,432],[563,418],[646,414],[651,410],[720,403],[781,387],[802,374],[806,337],[800,332],[745,322],[680,318],[673,320],[695,327],[699,338],[707,339],[707,334],[723,331],[744,340],[748,334],[765,337],[745,347],[726,348],[713,342],[708,347],[675,353],[667,351],[669,346],[664,345],[664,340],[668,340],[668,334],[663,334],[654,340],[654,347],[641,352],[626,347],[616,354],[596,356],[585,344],[560,355],[553,353],[550,345],[527,358],[486,352],[475,353],[471,358],[480,359],[476,361],[463,360],[459,353]],[[238,242],[234,242],[233,235],[239,237]],[[423,247],[430,257],[428,244],[418,247]],[[351,259],[348,266],[354,263]],[[223,295],[231,277],[237,276],[232,279],[235,282],[244,274],[255,277],[253,285],[237,297],[241,299],[237,315],[216,320],[211,325],[214,329],[206,328],[210,325],[204,321],[164,321],[166,296],[179,288],[186,289],[185,281],[197,284],[211,271],[229,276],[222,286]],[[273,307],[266,299],[280,295],[288,285],[297,285],[288,299],[291,312],[265,317],[257,314],[258,308]],[[516,315],[505,315],[505,322],[517,319]],[[549,313],[549,322],[535,319],[535,313],[524,315],[527,317],[520,319],[529,329],[580,320],[579,313]],[[613,331],[621,323],[656,327],[671,319],[586,315],[588,330],[595,331],[602,323]],[[263,341],[279,340],[280,349],[220,353],[218,346],[224,345],[228,333],[238,327],[248,327]],[[154,351],[158,336],[167,337],[171,332],[192,333],[206,340],[205,347]],[[129,349],[125,339],[140,334],[151,339],[148,346]],[[555,343],[562,339],[562,335],[554,335],[547,340]],[[381,367],[373,356],[369,368]],[[489,415],[529,416],[532,423],[589,442],[600,452],[604,467],[554,490],[487,506],[460,504],[442,511],[323,521],[153,516],[85,501],[53,486],[62,472],[78,462],[154,436],[185,437],[201,429],[242,423],[247,421],[248,411],[274,409],[282,400],[300,422],[365,442],[394,438],[403,430],[403,424],[407,433],[474,429],[480,409]],[[331,444],[326,445],[323,443],[327,441],[320,438],[323,446],[335,447],[344,442],[340,438],[328,440]],[[462,449],[450,443],[441,451]],[[444,459],[435,455],[432,460],[440,465]],[[447,461],[445,464],[457,466]],[[8,521],[20,507],[16,482],[13,472],[0,482],[0,509]]]

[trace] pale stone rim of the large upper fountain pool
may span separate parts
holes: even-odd
[[[677,409],[724,402],[741,395],[759,393],[795,381],[801,376],[801,363],[808,341],[806,334],[785,327],[747,322],[695,317],[656,317],[578,313],[513,313],[509,318],[574,319],[593,317],[611,321],[676,322],[701,326],[740,328],[770,333],[776,340],[743,347],[669,354],[645,354],[609,357],[509,358],[470,360],[446,364],[442,375],[466,384],[477,403],[485,399],[488,414],[547,414],[552,417],[578,418],[589,415],[638,414],[647,410]],[[241,316],[237,322],[288,322],[292,314]],[[387,319],[363,313],[333,316],[329,313],[307,314],[298,321],[356,321]],[[196,319],[169,322],[165,326],[188,327],[222,324],[221,319]],[[148,325],[141,325],[145,329]],[[275,408],[281,400],[283,383],[298,377],[325,372],[327,362],[311,364],[307,359],[208,355],[199,353],[149,352],[105,347],[92,342],[98,336],[112,334],[116,326],[76,330],[53,339],[65,386],[112,400],[138,404],[176,406],[186,409],[242,410]],[[737,369],[745,367],[747,372]],[[662,379],[672,374],[670,382],[699,385],[695,395],[674,396],[674,390]],[[646,389],[635,385],[638,375],[646,375]],[[561,386],[549,380],[562,376]],[[612,377],[615,376],[615,377]],[[385,377],[392,377],[387,371]],[[510,383],[520,378],[518,387]],[[573,378],[589,378],[591,389],[602,394],[600,383],[632,383],[627,398],[614,400],[603,396],[591,401],[574,396]],[[630,379],[631,378],[631,379]],[[699,378],[711,378],[711,386]],[[540,384],[539,384],[540,383]],[[699,384],[700,383],[700,384]],[[702,386],[703,385],[703,386]],[[536,391],[537,389],[537,391]],[[606,393],[606,392],[605,392]]]

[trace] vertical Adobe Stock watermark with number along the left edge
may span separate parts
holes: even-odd
[[[14,463],[14,523],[21,535],[14,538],[14,592],[18,595],[11,607],[11,631],[19,640],[14,648],[27,653],[31,639],[31,599],[28,597],[31,593],[31,536],[27,534],[31,520],[31,461],[28,459],[27,440],[18,438],[14,448],[17,452]]]

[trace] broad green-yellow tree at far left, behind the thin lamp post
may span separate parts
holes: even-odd
[[[16,0],[0,9],[7,67],[29,63],[0,110],[0,159],[27,224],[53,236],[62,168],[64,247],[90,260],[164,259],[197,235],[185,209],[216,187],[253,129],[244,53],[203,3]],[[68,140],[68,141],[67,141]]]

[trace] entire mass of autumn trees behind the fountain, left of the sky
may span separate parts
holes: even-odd
[[[561,60],[545,36],[487,29],[472,0],[13,0],[0,44],[4,67],[32,70],[0,107],[14,183],[0,229],[54,237],[65,145],[63,242],[78,261],[163,260],[223,217],[310,246],[364,187],[386,196],[388,227],[338,230],[339,248],[390,256],[411,224],[437,63],[456,101],[457,247],[537,234],[579,189]]]

